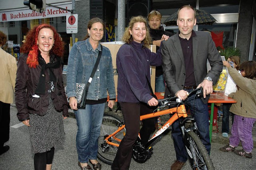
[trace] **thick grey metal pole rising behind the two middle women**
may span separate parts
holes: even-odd
[[[117,41],[121,41],[125,29],[125,0],[118,0]]]

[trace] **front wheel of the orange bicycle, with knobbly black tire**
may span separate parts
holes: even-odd
[[[186,138],[186,150],[194,170],[214,170],[210,156],[196,132],[189,131]]]

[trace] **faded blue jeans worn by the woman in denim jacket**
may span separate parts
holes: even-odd
[[[88,162],[88,159],[97,159],[98,137],[102,123],[105,103],[86,105],[86,109],[74,111],[78,126],[76,134],[76,149],[78,161]]]

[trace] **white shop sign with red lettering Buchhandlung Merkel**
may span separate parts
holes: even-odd
[[[72,10],[72,4],[62,4],[62,5],[58,5],[58,7]],[[2,16],[2,18],[0,18],[0,22],[54,18],[54,17],[66,16],[67,14],[70,14],[70,12],[66,10],[54,8],[51,6],[47,6],[46,11],[42,13],[29,10],[29,9],[0,12],[0,16]]]

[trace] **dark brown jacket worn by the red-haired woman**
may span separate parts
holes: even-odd
[[[53,69],[56,77],[54,82],[55,90],[52,92],[49,82],[48,69],[45,71],[45,94],[39,97],[33,97],[34,91],[38,86],[38,81],[41,73],[41,66],[30,68],[26,64],[28,54],[24,54],[19,58],[18,70],[16,73],[15,84],[15,104],[18,110],[17,117],[19,121],[29,119],[29,114],[45,115],[49,108],[50,98],[54,103],[54,108],[58,112],[63,112],[64,116],[68,116],[68,101],[63,85],[62,65],[59,68]],[[56,61],[56,57],[51,55],[51,58]],[[50,90],[50,91],[48,91]]]

